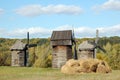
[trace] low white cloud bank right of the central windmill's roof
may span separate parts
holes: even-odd
[[[120,24],[113,26],[101,26],[101,27],[77,27],[75,28],[77,37],[95,37],[96,30],[99,30],[99,36],[120,36]]]

